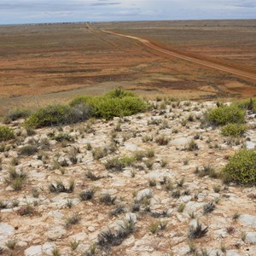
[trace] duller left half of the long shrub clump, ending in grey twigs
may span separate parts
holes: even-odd
[[[74,107],[67,105],[50,105],[40,108],[25,120],[26,127],[44,127],[50,125],[67,125],[83,121],[90,117],[90,108],[78,104]]]

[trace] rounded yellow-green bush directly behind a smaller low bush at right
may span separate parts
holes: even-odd
[[[207,113],[207,122],[211,125],[242,124],[245,121],[245,110],[236,105],[212,108]]]

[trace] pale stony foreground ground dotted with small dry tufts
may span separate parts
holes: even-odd
[[[234,139],[201,125],[214,102],[154,105],[32,135],[12,122],[16,138],[0,148],[2,254],[255,255],[256,189],[218,178],[254,148],[254,115]]]

